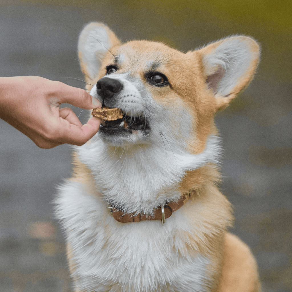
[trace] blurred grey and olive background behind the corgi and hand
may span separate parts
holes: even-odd
[[[122,41],[164,41],[181,51],[253,36],[262,48],[256,77],[216,116],[221,189],[235,209],[231,232],[251,247],[263,291],[292,291],[291,11],[291,1],[1,0],[0,76],[84,87],[77,40],[89,21],[105,22]],[[51,204],[70,176],[71,147],[40,149],[0,120],[0,150],[0,291],[72,291]]]

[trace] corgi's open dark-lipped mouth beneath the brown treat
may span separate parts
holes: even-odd
[[[123,118],[115,121],[102,120],[100,131],[107,135],[137,134],[138,131],[149,131],[147,119],[143,116],[131,116],[123,114]]]

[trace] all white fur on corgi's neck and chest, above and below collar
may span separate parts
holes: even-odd
[[[199,155],[145,148],[138,158],[132,153],[127,159],[124,154],[111,159],[101,140],[79,147],[79,159],[91,169],[97,193],[67,181],[56,200],[57,217],[74,253],[75,284],[88,291],[135,292],[205,291],[211,286],[209,259],[181,252],[187,246],[185,234],[193,232],[186,205],[163,226],[159,220],[119,223],[109,215],[105,200],[130,212],[151,212],[180,197],[177,186],[186,170],[216,161],[214,148],[218,151],[218,140],[211,137]]]

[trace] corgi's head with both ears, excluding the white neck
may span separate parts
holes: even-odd
[[[246,36],[182,53],[159,42],[121,44],[98,22],[83,29],[78,47],[91,95],[124,113],[100,126],[102,140],[170,144],[192,154],[217,133],[215,112],[249,84],[259,62],[259,46]]]

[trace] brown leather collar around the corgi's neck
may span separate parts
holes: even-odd
[[[177,202],[171,202],[166,205],[164,205],[164,215],[165,218],[168,218],[171,216],[171,214],[178,210],[181,206],[183,206],[184,201],[190,197],[190,193],[184,194]],[[134,215],[134,213],[131,214],[124,214],[123,211],[117,210],[116,208],[112,207],[107,207],[112,213],[114,219],[121,223],[127,223],[127,222],[139,222],[141,220],[160,220],[162,219],[162,210],[160,208],[154,209],[154,215],[152,217],[147,217],[145,215]],[[164,223],[164,222],[163,222]]]

